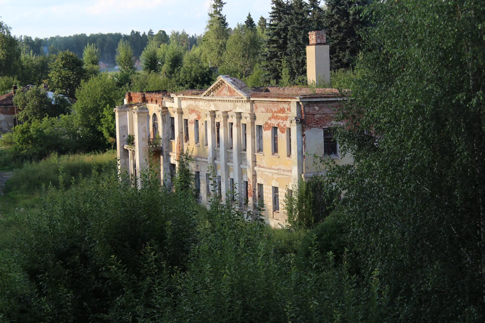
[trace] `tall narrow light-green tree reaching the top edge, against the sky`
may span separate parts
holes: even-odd
[[[222,65],[222,56],[226,50],[226,42],[229,38],[226,15],[222,9],[226,2],[213,0],[210,6],[209,21],[206,32],[202,38],[202,58],[210,66]]]

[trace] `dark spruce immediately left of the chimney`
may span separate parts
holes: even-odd
[[[307,74],[308,14],[307,2],[291,1],[291,12],[287,16],[288,45],[285,51],[291,81]]]

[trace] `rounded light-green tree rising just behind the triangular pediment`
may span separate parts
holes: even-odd
[[[259,60],[262,39],[255,28],[237,25],[227,40],[224,64],[220,72],[234,77],[248,77]]]

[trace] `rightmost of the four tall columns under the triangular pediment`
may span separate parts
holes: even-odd
[[[243,113],[242,119],[246,123],[246,160],[247,160],[247,190],[248,190],[248,211],[256,210],[256,171],[254,167],[256,166],[256,135],[254,126],[254,113]]]

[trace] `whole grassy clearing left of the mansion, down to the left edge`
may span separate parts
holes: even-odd
[[[26,212],[35,214],[40,207],[43,189],[49,184],[59,186],[60,169],[65,174],[64,185],[70,187],[81,178],[88,177],[93,170],[98,172],[114,169],[116,153],[51,155],[33,163],[14,169],[0,196],[0,250],[12,243],[18,226],[17,217]]]

